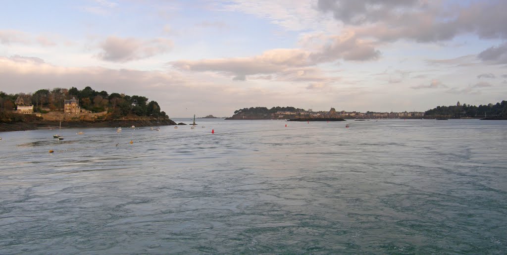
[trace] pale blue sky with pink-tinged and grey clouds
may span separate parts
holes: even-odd
[[[0,91],[90,86],[169,117],[507,100],[507,1],[0,1]]]

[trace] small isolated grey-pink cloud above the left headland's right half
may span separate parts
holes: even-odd
[[[102,52],[97,56],[105,61],[128,62],[166,53],[172,45],[171,40],[162,38],[142,41],[112,36],[100,43]]]

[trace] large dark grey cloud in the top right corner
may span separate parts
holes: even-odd
[[[423,0],[319,0],[317,7],[352,25],[361,37],[381,41],[439,42],[464,33],[475,33],[485,39],[507,38],[504,25],[507,1],[477,1],[447,7],[440,1]]]

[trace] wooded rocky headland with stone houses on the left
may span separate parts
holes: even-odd
[[[54,88],[35,93],[0,92],[0,132],[44,127],[130,127],[176,125],[144,96]]]

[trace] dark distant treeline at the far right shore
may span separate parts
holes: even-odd
[[[487,105],[469,105],[459,102],[456,105],[437,106],[424,113],[424,116],[440,116],[449,118],[480,118],[480,117],[507,117],[507,101]]]

